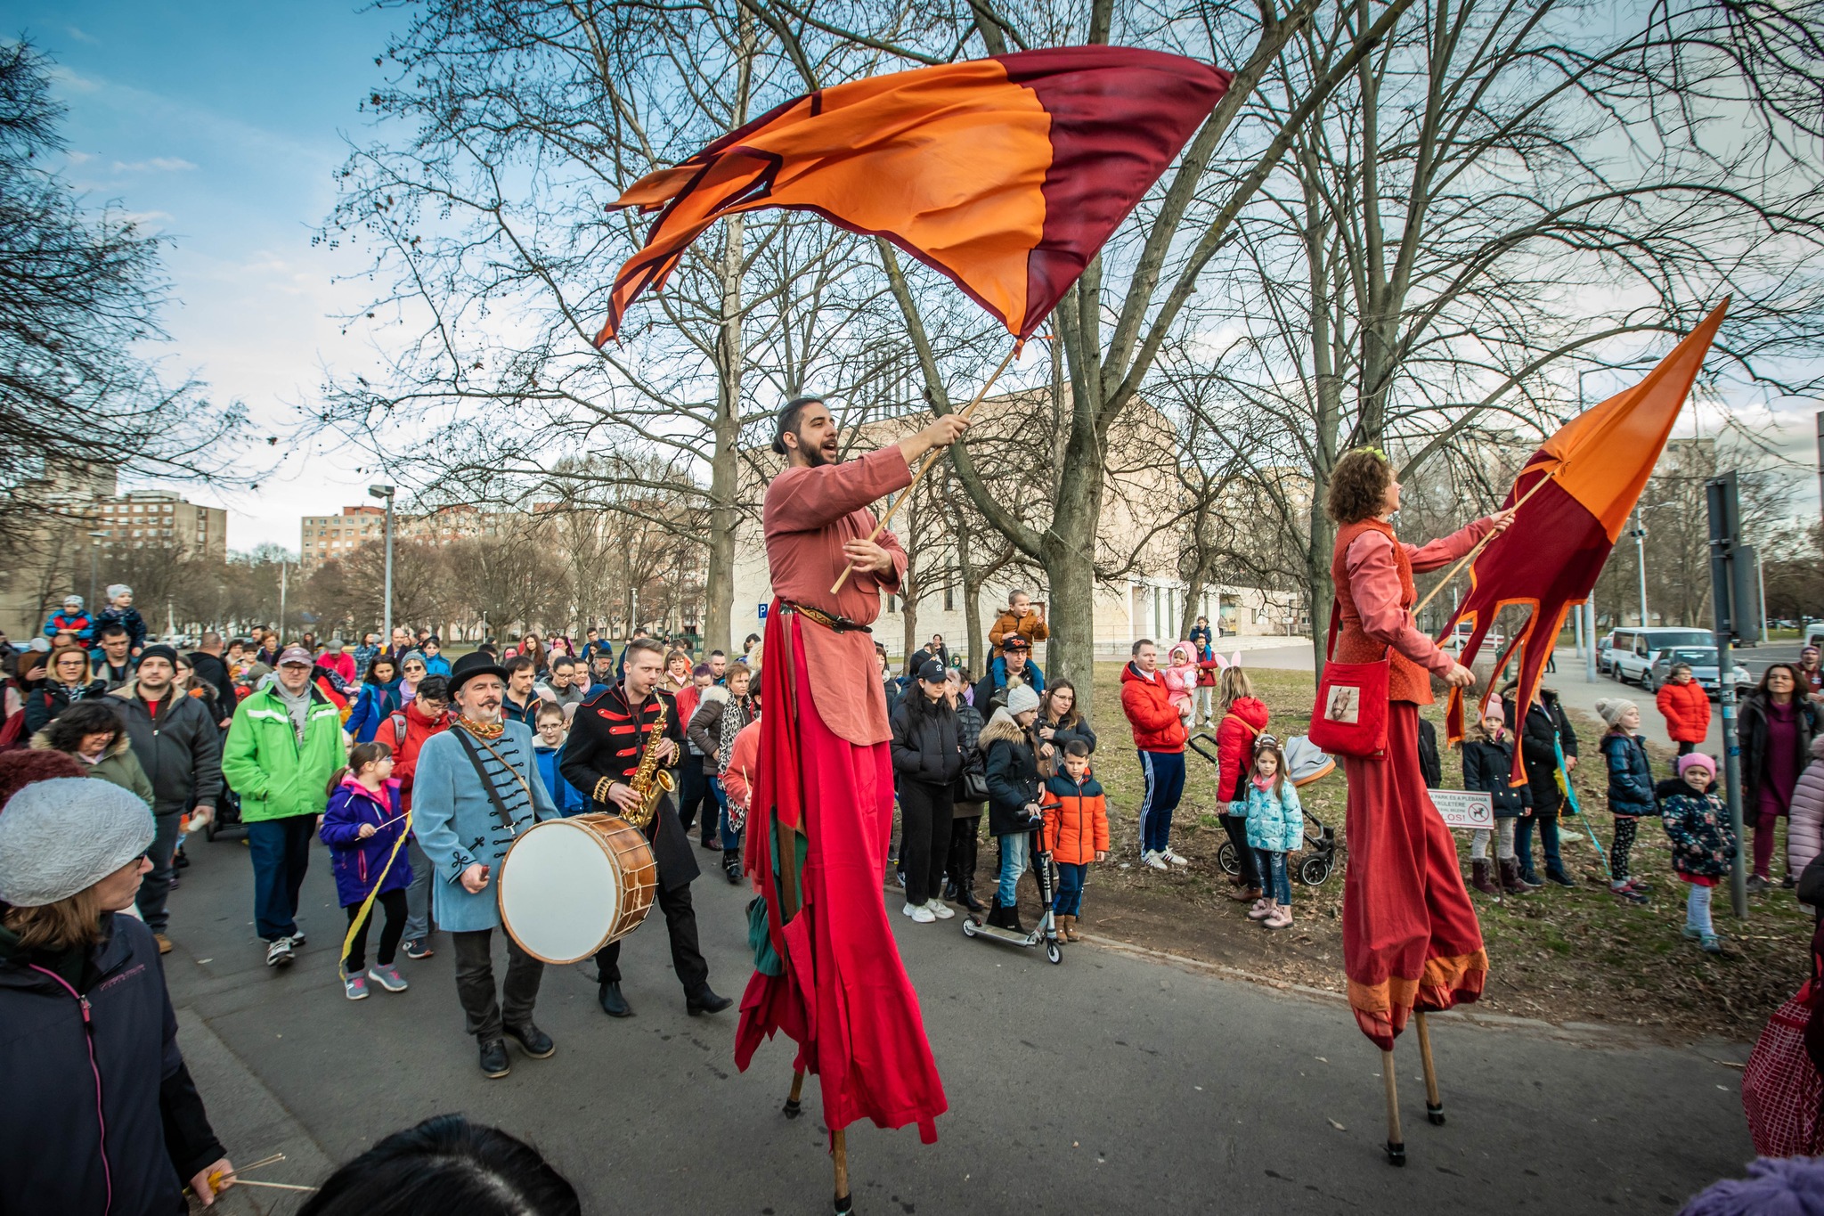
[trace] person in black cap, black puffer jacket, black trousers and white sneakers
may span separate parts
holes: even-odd
[[[945,693],[943,664],[928,658],[890,718],[899,784],[899,868],[907,875],[901,912],[919,924],[956,915],[938,899],[950,853],[950,784],[963,775],[956,711]]]

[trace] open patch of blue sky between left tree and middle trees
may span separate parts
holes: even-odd
[[[58,64],[67,177],[175,242],[170,370],[246,403],[254,434],[308,405],[321,368],[367,363],[334,314],[363,303],[356,253],[312,248],[332,171],[398,13],[343,4],[7,4],[5,35]],[[255,459],[277,456],[264,443]],[[297,547],[297,518],[365,501],[358,452],[285,454],[259,490],[190,487],[228,507],[228,541]]]

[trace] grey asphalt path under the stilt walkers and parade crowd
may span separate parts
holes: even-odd
[[[213,1123],[259,1176],[319,1181],[383,1134],[461,1110],[534,1141],[589,1212],[828,1211],[815,1085],[781,1116],[792,1048],[733,1068],[733,1010],[691,1019],[662,922],[627,939],[609,1021],[589,964],[551,968],[538,1023],[556,1056],[489,1081],[476,1068],[447,943],[403,963],[409,992],[343,997],[343,913],[326,851],[305,888],[310,943],[272,972],[254,939],[239,833],[197,839],[171,897],[166,957],[181,1039]],[[1094,879],[1085,897],[1094,930]],[[750,972],[746,891],[695,884],[711,983]],[[1273,990],[1113,944],[1038,952],[965,941],[958,921],[894,917],[950,1112],[939,1141],[855,1127],[861,1212],[1676,1211],[1753,1158],[1744,1045],[1651,1045],[1594,1026],[1443,1015],[1434,1045],[1448,1123],[1425,1121],[1417,1043],[1399,1046],[1410,1165],[1384,1163],[1379,1056],[1333,997]],[[500,955],[496,944],[496,955]],[[1494,961],[1501,964],[1499,959]],[[295,1211],[241,1189],[226,1212]]]

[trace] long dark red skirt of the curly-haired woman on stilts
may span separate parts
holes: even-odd
[[[1414,1008],[1446,1010],[1481,995],[1488,953],[1463,888],[1457,842],[1419,775],[1419,707],[1388,707],[1386,755],[1344,758],[1348,875],[1342,970],[1355,1023],[1381,1050]]]

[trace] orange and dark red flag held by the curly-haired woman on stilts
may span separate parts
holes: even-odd
[[[1525,627],[1516,631],[1496,662],[1496,671],[1505,671],[1514,649],[1519,649],[1514,704],[1521,713],[1532,704],[1570,605],[1589,600],[1603,562],[1640,501],[1727,308],[1724,299],[1643,381],[1565,423],[1514,478],[1503,503],[1519,503],[1514,523],[1470,565],[1470,594],[1439,638],[1448,636],[1459,620],[1470,622],[1461,658],[1470,664],[1503,607],[1530,607]],[[1541,479],[1547,483],[1541,485]],[[1448,731],[1452,740],[1463,738],[1459,691],[1450,693]],[[1518,747],[1512,777],[1516,786],[1525,778]]]

